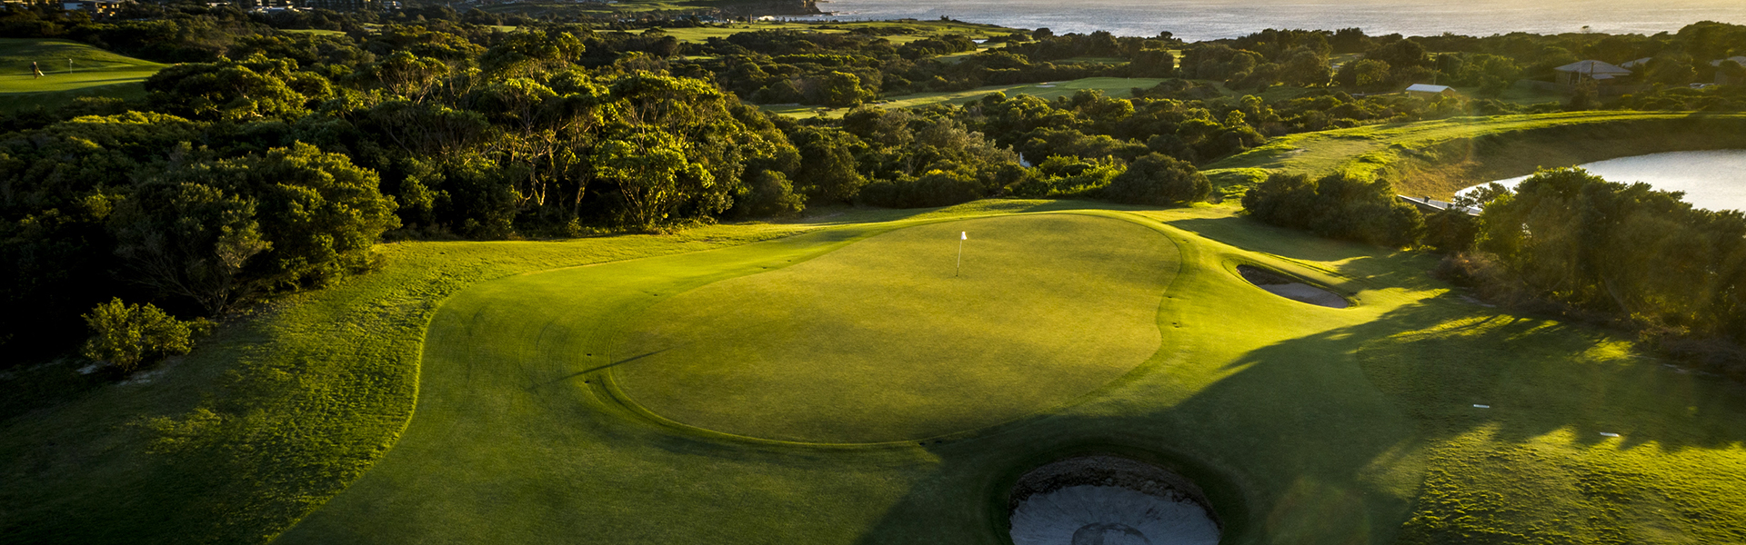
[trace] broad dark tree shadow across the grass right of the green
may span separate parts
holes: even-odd
[[[1463,433],[1489,430],[1500,447],[1556,431],[1578,447],[1746,442],[1741,388],[1615,344],[1589,327],[1432,300],[1248,351],[1231,376],[1180,404],[1109,410],[1140,405],[1121,398],[1166,383],[1166,367],[1112,391],[1109,404],[925,445],[939,456],[936,470],[859,543],[995,543],[1016,477],[1086,449],[1154,456],[1200,482],[1226,543],[1392,543],[1423,494],[1426,449]],[[941,528],[941,514],[974,531]]]

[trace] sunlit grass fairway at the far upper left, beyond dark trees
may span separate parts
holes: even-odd
[[[30,73],[33,61],[44,77]],[[56,107],[77,96],[140,98],[140,82],[164,66],[72,40],[0,38],[0,108]]]

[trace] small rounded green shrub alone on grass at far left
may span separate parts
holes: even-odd
[[[152,304],[126,304],[120,297],[91,309],[86,323],[93,335],[86,341],[84,355],[113,363],[122,372],[189,353],[196,334],[208,325],[206,320],[176,320]]]

